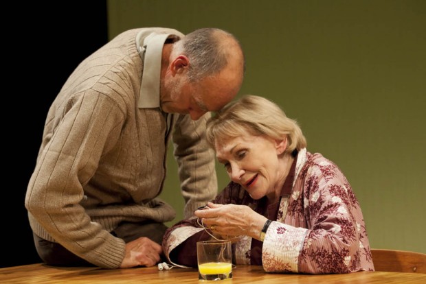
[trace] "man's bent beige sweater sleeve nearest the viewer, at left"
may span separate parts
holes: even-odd
[[[43,135],[25,206],[30,219],[65,248],[102,268],[118,268],[124,241],[91,222],[80,202],[85,199],[82,186],[95,173],[102,154],[117,142],[124,114],[109,97],[93,90],[61,104],[67,104],[63,114],[54,114],[54,106],[49,110],[49,117],[60,119],[47,122],[46,128],[55,131]]]

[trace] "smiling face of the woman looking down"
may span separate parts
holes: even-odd
[[[281,191],[284,183],[282,141],[245,134],[216,143],[216,157],[225,165],[229,178],[258,200]]]

